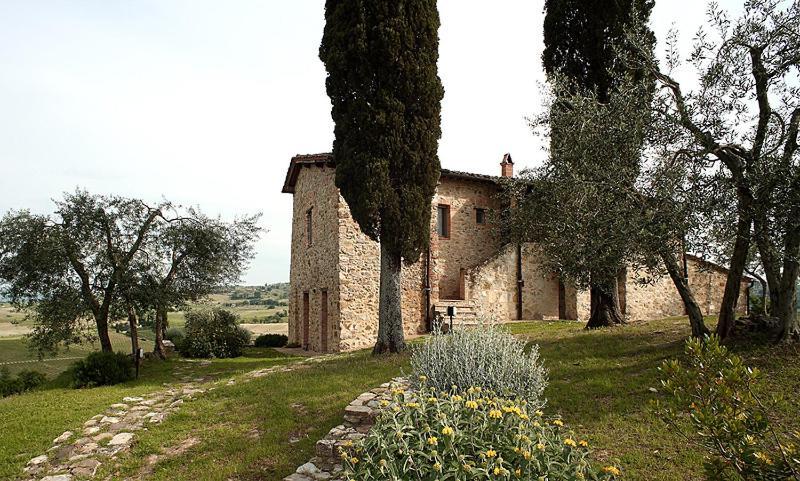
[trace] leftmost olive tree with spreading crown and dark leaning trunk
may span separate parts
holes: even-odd
[[[168,206],[78,190],[57,201],[52,216],[3,217],[0,281],[16,307],[32,311],[40,353],[92,337],[88,319],[102,350],[112,350],[108,322],[121,284]]]

